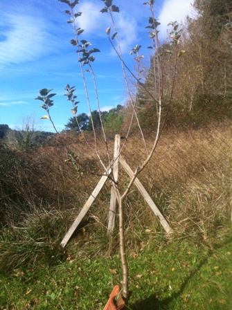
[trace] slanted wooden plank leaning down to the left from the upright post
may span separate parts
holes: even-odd
[[[109,168],[108,170],[108,174],[111,173],[111,168]],[[78,225],[80,224],[80,221],[82,221],[84,215],[87,214],[89,208],[91,207],[93,201],[96,199],[96,197],[98,196],[100,190],[102,189],[102,186],[105,184],[105,182],[107,181],[108,176],[107,175],[103,175],[100,178],[100,181],[98,182],[98,185],[96,186],[96,188],[93,190],[93,192],[91,193],[91,196],[89,197],[89,199],[87,200],[87,202],[84,204],[84,207],[82,208],[82,210],[80,211],[78,217],[75,219],[75,221],[73,222],[73,225],[71,226],[71,228],[69,228],[68,233],[66,233],[66,235],[64,236],[64,239],[61,241],[60,246],[62,246],[62,248],[64,248],[64,246],[66,246],[67,242],[69,241],[69,239],[71,238],[71,236],[73,235],[75,229],[78,227]]]

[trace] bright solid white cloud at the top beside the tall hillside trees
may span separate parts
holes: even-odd
[[[159,14],[161,26],[160,38],[167,38],[167,28],[170,21],[184,21],[187,15],[191,15],[191,3],[193,0],[165,0]]]

